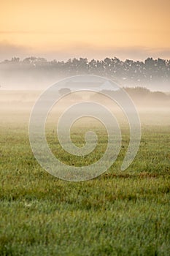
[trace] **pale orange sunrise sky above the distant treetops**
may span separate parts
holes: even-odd
[[[1,0],[0,61],[170,59],[169,0]]]

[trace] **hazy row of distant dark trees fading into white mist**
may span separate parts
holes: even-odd
[[[86,58],[69,59],[68,61],[47,61],[44,58],[28,57],[19,59],[14,57],[0,63],[0,70],[20,70],[31,72],[45,72],[46,75],[57,73],[59,77],[72,75],[93,74],[111,79],[117,79],[123,86],[147,86],[149,83],[170,82],[170,60],[147,58],[144,61],[126,59],[121,61],[117,57],[103,60]]]

